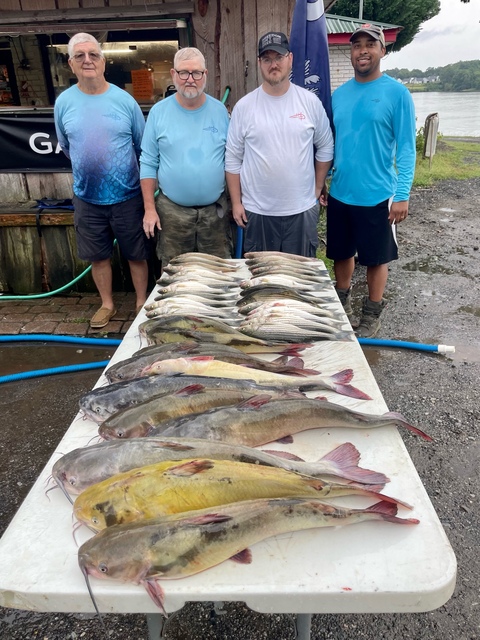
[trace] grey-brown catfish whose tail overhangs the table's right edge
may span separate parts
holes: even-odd
[[[401,426],[424,440],[432,440],[400,413],[360,413],[328,400],[306,397],[265,401],[253,398],[242,406],[213,409],[166,423],[152,430],[151,435],[206,438],[257,447],[309,429],[387,426]]]

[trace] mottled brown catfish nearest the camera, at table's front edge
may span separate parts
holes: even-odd
[[[228,559],[250,564],[251,545],[302,529],[367,520],[419,523],[416,518],[398,518],[396,514],[396,506],[387,502],[366,509],[345,509],[311,499],[253,500],[180,517],[109,527],[80,547],[78,563],[90,594],[89,576],[141,584],[167,615],[157,579],[184,578]],[[318,547],[321,551],[320,537]],[[276,558],[272,565],[273,562],[282,560]]]

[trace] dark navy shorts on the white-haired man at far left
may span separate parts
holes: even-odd
[[[97,262],[110,258],[114,238],[126,260],[148,258],[141,194],[116,204],[92,204],[74,196],[73,205],[77,252],[82,260]]]

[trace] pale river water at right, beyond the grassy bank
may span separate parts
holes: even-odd
[[[417,129],[430,113],[438,113],[438,131],[444,136],[480,137],[480,92],[412,92]]]

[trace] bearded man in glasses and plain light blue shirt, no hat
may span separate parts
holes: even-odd
[[[228,112],[204,91],[207,70],[198,49],[180,49],[171,75],[176,93],[152,107],[142,140],[145,232],[160,231],[162,267],[191,251],[231,258],[224,193]]]

